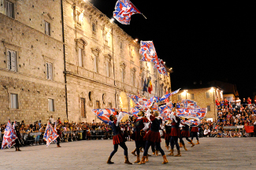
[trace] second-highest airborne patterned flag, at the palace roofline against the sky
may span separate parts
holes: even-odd
[[[141,61],[153,62],[159,65],[158,55],[152,41],[140,41],[139,54],[143,55]]]

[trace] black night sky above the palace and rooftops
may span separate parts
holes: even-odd
[[[113,17],[117,0],[90,0]],[[168,2],[168,3],[167,3]],[[243,4],[132,0],[143,13],[118,24],[134,39],[153,40],[158,57],[173,68],[172,90],[194,81],[236,84],[240,98],[256,91],[256,14]],[[252,5],[251,5],[252,6]]]

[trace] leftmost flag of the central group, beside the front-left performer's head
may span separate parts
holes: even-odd
[[[93,109],[92,112],[95,113],[95,116],[97,116],[99,120],[102,120],[103,123],[109,124],[109,125],[112,124],[111,121],[109,120],[109,116],[117,115],[117,112],[115,111],[115,109]],[[127,112],[122,112],[122,113],[123,113],[123,116],[126,114],[130,115],[130,113],[127,113]]]

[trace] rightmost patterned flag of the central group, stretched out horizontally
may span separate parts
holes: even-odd
[[[207,113],[207,109],[205,108],[198,108],[198,109],[176,109],[177,114],[176,116],[182,116],[185,118],[194,118],[197,120],[202,120]]]

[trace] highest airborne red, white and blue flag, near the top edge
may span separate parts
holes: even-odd
[[[129,0],[118,0],[113,12],[113,17],[121,24],[130,24],[131,17],[135,13],[140,13]]]

